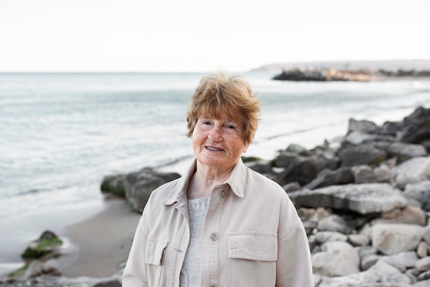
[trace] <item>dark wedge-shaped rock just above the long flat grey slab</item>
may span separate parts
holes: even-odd
[[[350,168],[339,168],[337,170],[323,170],[319,172],[317,177],[304,187],[309,190],[314,190],[318,187],[344,185],[348,183],[354,183],[354,174],[352,174]]]

